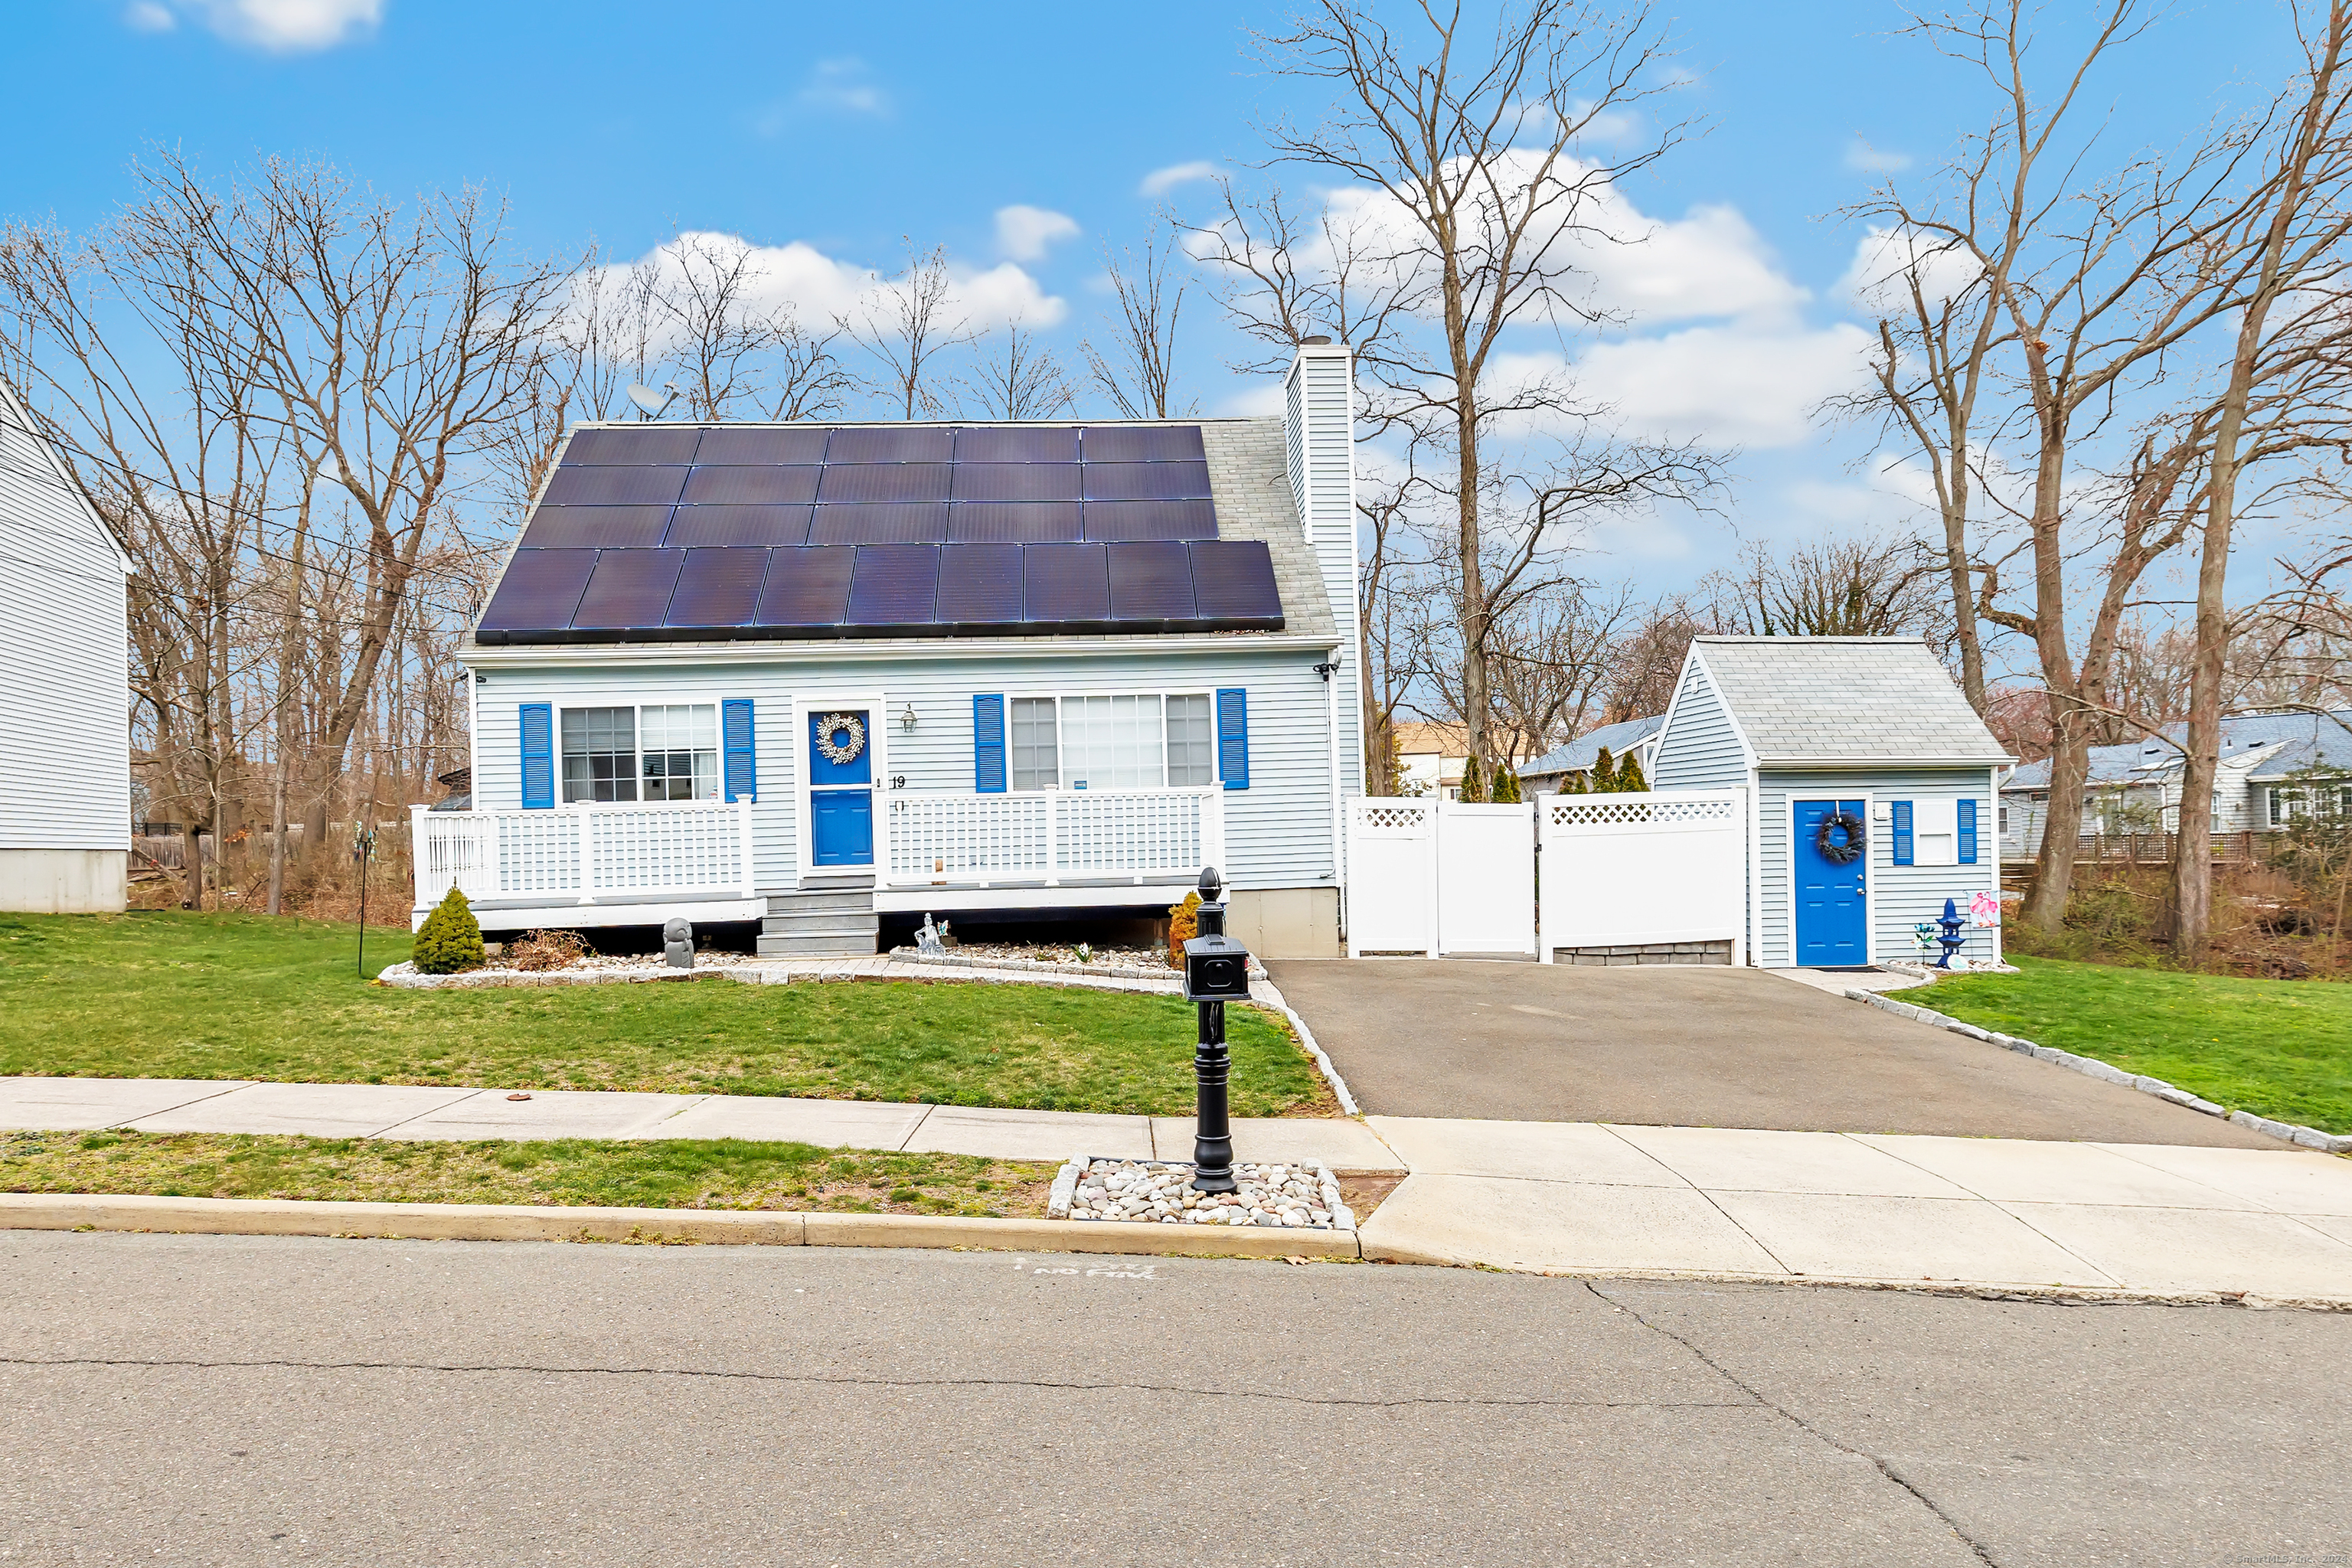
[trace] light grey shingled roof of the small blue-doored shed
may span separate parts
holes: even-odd
[[[1919,637],[1693,637],[1762,764],[2009,762]]]

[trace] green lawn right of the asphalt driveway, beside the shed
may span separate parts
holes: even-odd
[[[1924,1001],[2230,1110],[2352,1133],[2352,985],[2013,961],[2023,973],[1938,980]]]

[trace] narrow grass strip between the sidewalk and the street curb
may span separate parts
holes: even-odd
[[[0,1133],[0,1192],[1042,1215],[1054,1166],[804,1143]]]

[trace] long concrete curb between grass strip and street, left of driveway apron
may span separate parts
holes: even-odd
[[[731,1246],[913,1246],[1157,1258],[1362,1255],[1355,1232],[1211,1229],[1117,1220],[967,1220],[748,1208],[555,1208],[522,1204],[339,1204],[0,1192],[0,1229],[125,1229],[195,1237],[381,1237],[405,1241],[701,1241]]]

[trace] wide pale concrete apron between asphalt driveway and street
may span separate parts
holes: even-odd
[[[2352,1305],[2352,1161],[2291,1150],[1369,1117],[1364,1255]]]

